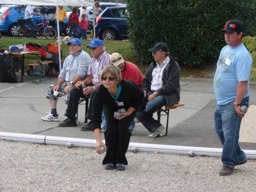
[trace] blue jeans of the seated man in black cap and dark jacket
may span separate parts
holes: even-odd
[[[148,101],[148,96],[154,91],[148,91],[143,100],[140,110],[136,114],[136,118],[146,127],[149,132],[155,132],[161,124],[153,118],[153,113],[157,109],[166,105],[165,95],[157,95],[154,99]]]

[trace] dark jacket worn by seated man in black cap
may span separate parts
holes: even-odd
[[[180,66],[172,56],[163,71],[163,86],[157,90],[158,95],[165,95],[167,106],[172,106],[180,101]],[[156,67],[156,62],[152,62],[146,72],[141,89],[150,91],[152,72]]]

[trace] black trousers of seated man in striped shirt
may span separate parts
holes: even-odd
[[[93,86],[93,84],[88,84],[87,86]],[[73,120],[76,119],[76,111],[78,108],[78,103],[80,98],[85,98],[83,88],[80,87],[79,89],[77,89],[76,86],[72,87],[70,91],[68,107],[66,109],[66,113],[64,114],[65,116]],[[89,113],[89,107],[88,107],[88,113]]]

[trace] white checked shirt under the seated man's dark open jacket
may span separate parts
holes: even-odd
[[[167,63],[170,62],[170,58],[167,56],[164,62],[160,65],[156,62],[156,67],[152,71],[152,81],[151,81],[151,91],[157,91],[161,87],[163,87],[163,72]]]

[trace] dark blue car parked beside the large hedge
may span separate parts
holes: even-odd
[[[127,16],[126,6],[107,7],[96,19],[96,37],[108,41],[127,39]]]

